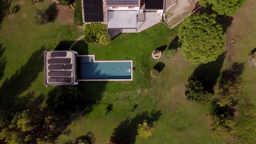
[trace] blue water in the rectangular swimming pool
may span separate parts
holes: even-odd
[[[80,62],[82,80],[129,80],[131,73],[131,62]]]

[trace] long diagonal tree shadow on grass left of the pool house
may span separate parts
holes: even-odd
[[[25,65],[3,82],[0,88],[0,110],[13,111],[15,100],[19,94],[28,89],[32,82],[37,79],[38,74],[44,68],[44,50],[44,46],[36,50]]]

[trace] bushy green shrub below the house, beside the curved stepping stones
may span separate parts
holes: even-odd
[[[111,37],[107,32],[107,25],[104,23],[90,23],[84,26],[86,43],[111,43]]]

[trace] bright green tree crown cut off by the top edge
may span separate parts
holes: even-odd
[[[247,0],[200,0],[202,7],[211,7],[219,15],[234,15]]]

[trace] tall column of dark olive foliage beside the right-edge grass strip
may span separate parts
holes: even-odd
[[[230,69],[223,71],[219,97],[212,103],[211,130],[213,134],[228,137],[230,142],[239,140],[236,133],[235,106],[242,95],[240,76],[244,68],[244,63],[235,62]]]

